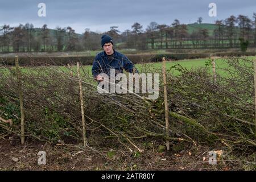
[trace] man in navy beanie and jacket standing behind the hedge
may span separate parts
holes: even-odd
[[[102,35],[101,46],[104,51],[98,53],[93,61],[92,74],[98,81],[102,81],[100,73],[106,73],[110,77],[110,69],[115,69],[115,75],[123,73],[123,69],[129,73],[138,73],[134,64],[122,53],[113,49],[113,40],[109,35]]]

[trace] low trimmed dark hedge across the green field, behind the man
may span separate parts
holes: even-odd
[[[199,59],[210,56],[254,56],[255,52],[218,52],[218,53],[165,53],[165,54],[134,54],[126,55],[134,64],[137,63],[152,63],[162,60],[166,57],[170,60],[183,59]],[[94,56],[67,56],[67,57],[19,57],[20,65],[67,65],[68,63],[76,63],[80,61],[82,65],[92,65]],[[14,57],[2,58],[0,64],[14,65]]]

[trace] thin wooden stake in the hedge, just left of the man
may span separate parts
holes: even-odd
[[[82,137],[84,139],[84,147],[86,146],[86,130],[85,130],[85,118],[84,118],[84,98],[82,97],[82,81],[80,77],[80,65],[77,62],[77,77],[79,78],[79,90],[80,90],[80,104],[81,104],[81,114],[82,114]]]

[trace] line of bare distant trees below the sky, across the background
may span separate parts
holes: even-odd
[[[201,24],[199,17],[195,24]],[[195,25],[194,24],[194,25]],[[190,24],[191,25],[191,24]],[[193,24],[192,24],[193,25]],[[170,25],[151,22],[146,28],[135,22],[131,30],[123,32],[117,26],[102,34],[109,34],[119,48],[133,49],[197,49],[197,48],[237,48],[246,51],[248,46],[256,47],[256,13],[253,19],[245,15],[216,20],[214,30],[197,26],[189,32],[187,24],[175,19]],[[35,28],[33,24],[19,24],[11,27],[0,26],[0,52],[54,52],[85,51],[100,49],[100,33],[85,29],[84,34],[76,34],[72,27],[56,27],[51,30],[44,24]]]

